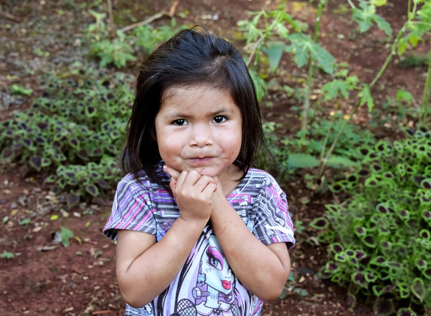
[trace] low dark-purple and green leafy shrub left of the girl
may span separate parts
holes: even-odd
[[[116,157],[124,143],[133,104],[131,80],[92,70],[41,78],[43,94],[0,124],[0,160],[21,161],[46,171],[54,192],[99,196],[117,183]]]

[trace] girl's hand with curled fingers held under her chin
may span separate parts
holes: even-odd
[[[180,216],[186,221],[206,224],[211,215],[217,181],[195,170],[179,172],[168,166],[163,166],[163,170],[171,176],[169,186],[180,209]]]

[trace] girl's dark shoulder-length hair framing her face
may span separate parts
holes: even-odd
[[[208,84],[229,91],[242,115],[242,143],[235,165],[245,176],[259,148],[265,147],[259,103],[247,66],[235,47],[209,33],[183,30],[142,63],[136,82],[127,141],[120,156],[124,172],[144,170],[156,183],[160,161],[155,119],[165,91],[172,86]],[[242,177],[243,177],[242,176]]]

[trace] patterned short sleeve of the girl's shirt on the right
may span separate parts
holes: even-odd
[[[260,188],[253,234],[266,245],[285,242],[290,249],[295,244],[286,194],[270,175]]]

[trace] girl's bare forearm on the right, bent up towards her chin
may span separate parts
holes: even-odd
[[[211,224],[235,275],[260,299],[276,299],[290,273],[290,261],[283,263],[257,239],[226,199],[213,205]]]

